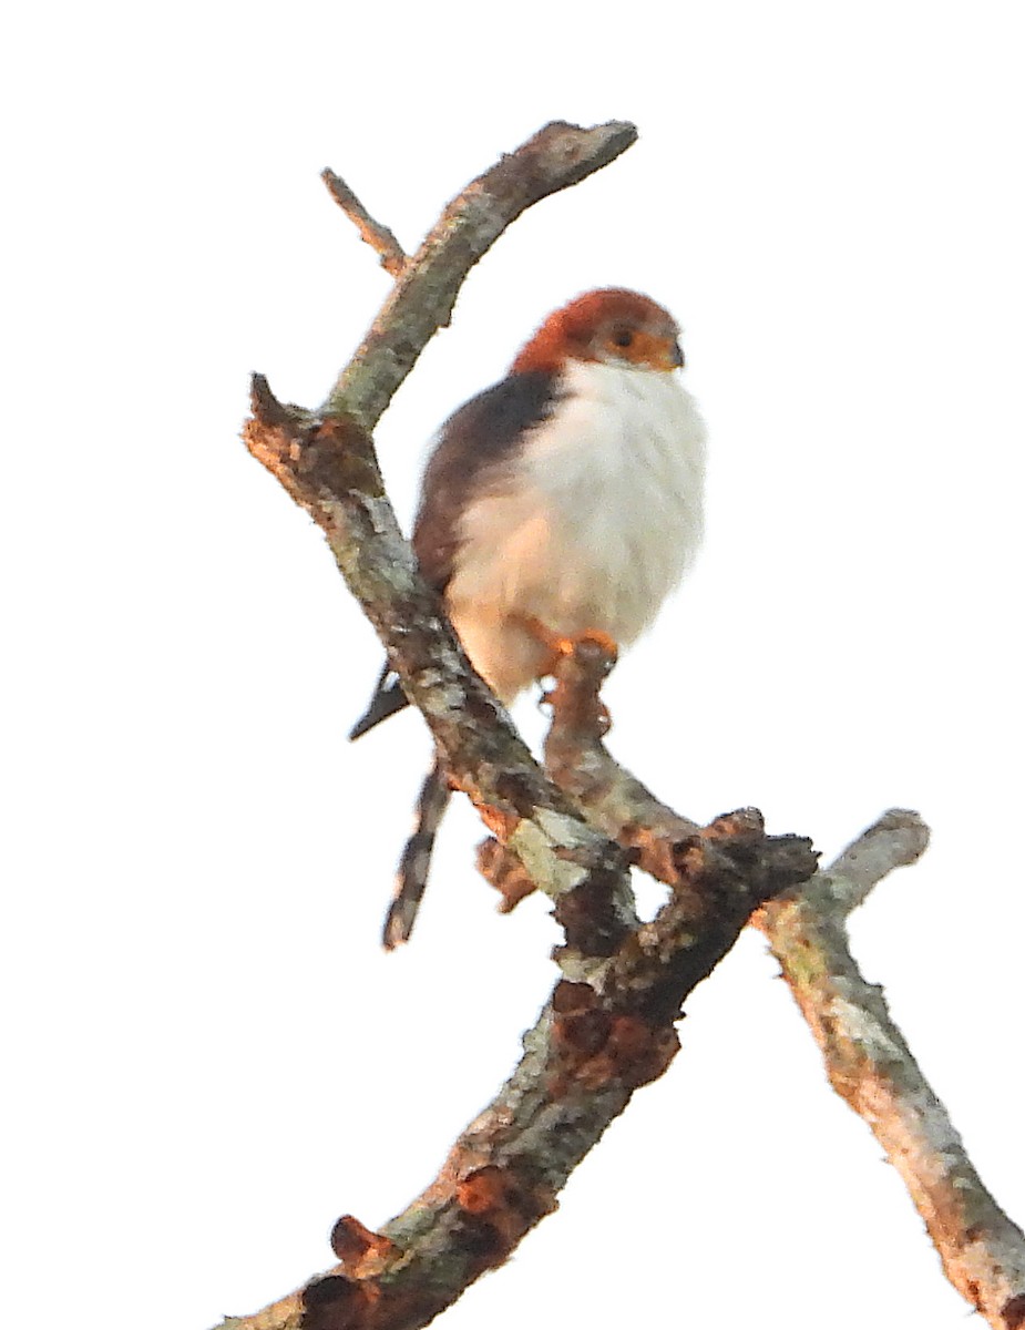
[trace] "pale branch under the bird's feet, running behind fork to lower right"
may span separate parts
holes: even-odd
[[[610,661],[596,644],[566,660],[550,694],[554,722],[545,761],[589,821],[659,880],[679,883],[681,847],[693,823],[620,767],[602,742],[598,690]],[[893,1024],[879,987],[851,955],[846,919],[888,872],[925,851],[916,813],[885,813],[804,886],[754,916],[768,938],[822,1049],[834,1088],[869,1125],[919,1208],[953,1286],[997,1330],[1025,1326],[1025,1234],[972,1168],[947,1111]],[[488,875],[514,875],[508,853],[489,847]]]

